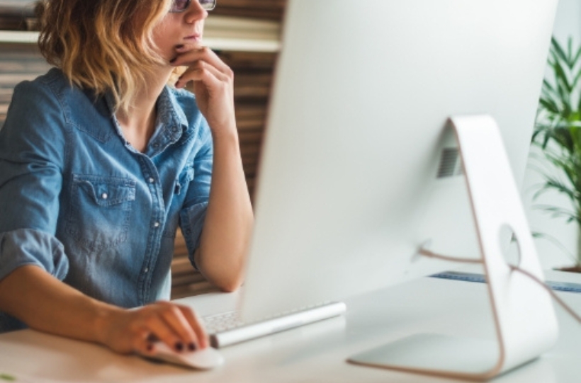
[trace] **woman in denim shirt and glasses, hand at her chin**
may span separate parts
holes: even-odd
[[[0,131],[2,330],[119,353],[207,347],[196,314],[167,302],[176,229],[232,291],[253,219],[232,71],[201,45],[214,5],[44,2],[39,45],[56,68],[16,86]]]

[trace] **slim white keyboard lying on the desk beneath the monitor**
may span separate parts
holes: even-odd
[[[210,344],[215,348],[222,348],[339,316],[345,311],[346,306],[343,302],[327,302],[247,323],[239,319],[237,311],[205,316],[203,321],[206,331],[210,334]]]

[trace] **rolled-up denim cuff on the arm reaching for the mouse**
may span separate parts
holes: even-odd
[[[38,265],[59,280],[69,271],[64,246],[55,236],[35,229],[0,233],[0,280],[24,265]]]

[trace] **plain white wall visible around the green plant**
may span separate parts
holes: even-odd
[[[573,38],[573,46],[581,44],[581,0],[560,0],[553,35],[562,44],[569,36]],[[535,239],[539,258],[543,268],[558,268],[570,265],[572,257],[577,253],[577,233],[579,229],[575,223],[567,224],[562,218],[553,218],[547,212],[534,207],[538,204],[558,205],[570,208],[570,202],[563,195],[548,192],[536,200],[532,200],[538,184],[543,183],[543,177],[534,169],[535,166],[551,169],[546,162],[535,160],[534,156],[542,154],[536,148],[531,150],[531,159],[524,176],[524,205],[529,217],[531,231],[543,233],[554,238],[553,241],[543,238]]]

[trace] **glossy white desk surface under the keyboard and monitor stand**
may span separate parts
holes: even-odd
[[[581,283],[581,275],[569,273],[549,272],[547,279]],[[559,295],[581,313],[581,294]],[[232,308],[235,299],[236,293],[210,294],[181,302],[205,315]],[[225,365],[208,372],[116,355],[99,345],[31,330],[0,335],[0,372],[27,378],[23,382],[458,382],[345,360],[413,333],[495,336],[482,283],[422,278],[345,302],[343,317],[222,349]],[[581,382],[581,325],[555,309],[560,325],[555,348],[493,382]]]

